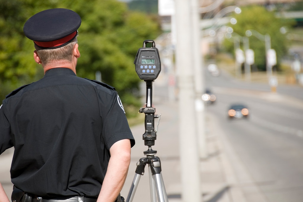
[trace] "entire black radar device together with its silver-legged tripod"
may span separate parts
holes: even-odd
[[[145,40],[143,42],[143,48],[139,48],[135,57],[134,64],[139,78],[143,79],[146,83],[145,107],[140,108],[139,113],[145,114],[145,130],[144,134],[142,135],[142,139],[144,140],[144,145],[148,146],[148,149],[143,152],[146,157],[142,157],[137,162],[135,177],[132,182],[131,188],[129,189],[126,202],[132,202],[139,184],[140,177],[144,174],[144,168],[146,165],[148,165],[149,171],[148,173],[151,201],[168,202],[163,177],[161,174],[161,161],[159,157],[155,156],[157,154],[157,151],[151,148],[155,145],[155,140],[157,139],[155,118],[159,118],[160,120],[161,116],[161,114],[155,114],[156,109],[152,105],[152,83],[158,77],[161,71],[159,51],[155,47],[155,41]],[[158,200],[156,196],[158,196]]]

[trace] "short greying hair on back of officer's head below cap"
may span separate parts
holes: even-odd
[[[69,44],[55,49],[42,49],[35,45],[35,49],[38,52],[38,56],[43,65],[47,65],[51,62],[59,62],[62,60],[72,61],[72,55],[75,44],[78,43],[77,37]]]

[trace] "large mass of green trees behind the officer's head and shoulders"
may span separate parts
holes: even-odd
[[[42,67],[33,60],[33,42],[23,34],[26,20],[49,8],[68,8],[82,18],[78,43],[81,57],[77,75],[95,79],[101,71],[102,81],[118,91],[123,104],[139,105],[139,78],[134,58],[143,41],[155,39],[160,25],[155,16],[134,13],[117,0],[0,0],[0,96],[20,85],[43,76]]]

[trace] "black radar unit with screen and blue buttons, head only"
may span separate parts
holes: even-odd
[[[161,71],[161,61],[155,41],[145,40],[143,42],[143,48],[138,49],[134,64],[140,79],[155,80],[158,77]]]

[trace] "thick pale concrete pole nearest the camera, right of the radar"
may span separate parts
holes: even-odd
[[[175,0],[176,66],[179,84],[181,198],[201,202],[198,138],[195,127],[195,59],[192,54],[191,2]]]

